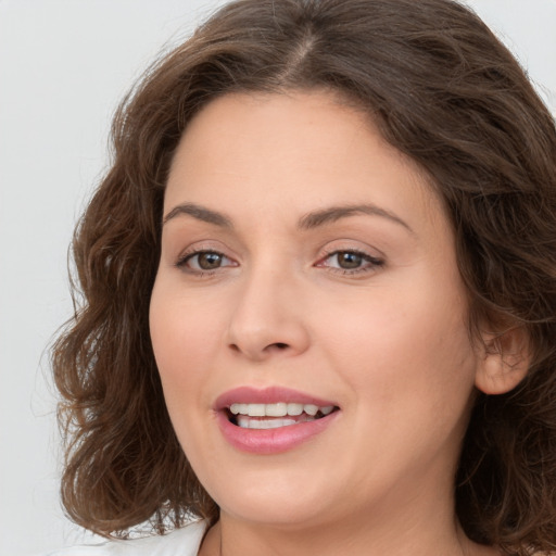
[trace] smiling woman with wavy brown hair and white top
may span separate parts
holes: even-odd
[[[159,536],[87,554],[556,548],[556,130],[477,16],[240,0],[113,137],[62,494]]]

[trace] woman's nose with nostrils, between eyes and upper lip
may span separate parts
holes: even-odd
[[[227,331],[229,349],[254,362],[307,350],[308,315],[295,280],[268,268],[245,277],[240,288]]]

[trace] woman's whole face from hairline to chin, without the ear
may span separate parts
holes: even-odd
[[[481,357],[416,166],[328,93],[228,94],[181,139],[164,215],[152,342],[223,515],[298,528],[451,504]]]

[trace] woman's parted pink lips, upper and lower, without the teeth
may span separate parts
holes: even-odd
[[[229,421],[228,413],[226,412],[232,403],[271,404],[278,402],[314,404],[319,407],[337,405],[333,402],[320,400],[287,388],[273,387],[264,390],[250,387],[237,388],[225,392],[214,404],[220,432],[229,444],[241,452],[261,455],[279,454],[292,450],[320,434],[336,421],[341,413],[336,410],[326,417],[313,421],[299,422],[277,429],[242,429]]]

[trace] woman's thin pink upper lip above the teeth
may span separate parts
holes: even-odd
[[[215,403],[214,408],[222,410],[228,408],[233,403],[242,404],[276,404],[280,402],[298,403],[298,404],[313,404],[318,407],[328,407],[330,405],[337,406],[338,404],[329,400],[315,397],[314,395],[292,390],[283,387],[269,387],[256,389],[253,387],[239,387],[228,390],[219,395]]]

